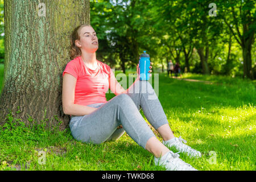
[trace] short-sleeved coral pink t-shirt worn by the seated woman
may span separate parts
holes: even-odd
[[[109,78],[114,76],[109,65],[98,61],[96,70],[92,70],[84,64],[81,56],[68,62],[64,73],[74,76],[76,81],[75,102],[79,105],[90,105],[94,103],[107,102],[106,92],[109,90]]]

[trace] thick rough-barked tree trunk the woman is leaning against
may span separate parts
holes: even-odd
[[[39,6],[39,3],[45,6]],[[0,124],[9,109],[21,121],[48,120],[52,127],[69,115],[62,107],[62,73],[70,61],[69,35],[82,23],[90,22],[89,0],[4,1],[5,75],[0,98]],[[44,14],[44,11],[45,14]]]

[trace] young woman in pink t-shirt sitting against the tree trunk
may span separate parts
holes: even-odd
[[[71,61],[63,72],[63,111],[71,115],[69,127],[73,137],[82,142],[102,143],[116,140],[126,133],[139,146],[155,156],[155,164],[167,170],[196,170],[183,162],[168,147],[194,157],[201,153],[188,147],[182,138],[174,137],[162,105],[148,81],[137,79],[125,90],[115,79],[109,65],[96,59],[98,38],[93,27],[82,24],[71,35]],[[151,73],[151,66],[150,71]],[[116,95],[106,101],[108,89]],[[154,96],[154,99],[152,99]],[[161,143],[144,121],[163,138]]]

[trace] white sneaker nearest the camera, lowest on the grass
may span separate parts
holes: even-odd
[[[165,167],[166,171],[197,171],[190,164],[181,160],[179,154],[169,151],[166,155],[165,158],[155,157],[155,165]]]

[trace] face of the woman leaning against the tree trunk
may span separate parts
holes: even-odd
[[[76,46],[84,51],[93,53],[98,49],[98,38],[93,27],[82,27],[80,32],[80,40],[76,40]]]

